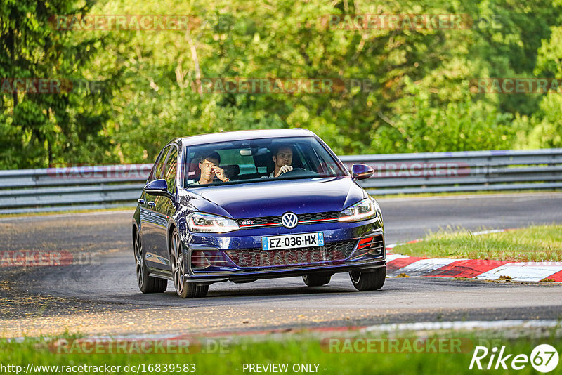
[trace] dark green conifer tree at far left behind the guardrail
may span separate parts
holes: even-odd
[[[0,135],[5,146],[0,168],[104,159],[100,150],[108,148],[102,131],[110,116],[106,106],[112,96],[112,77],[103,77],[105,89],[98,91],[88,84],[95,76],[84,75],[103,40],[79,40],[72,31],[53,25],[56,15],[84,15],[92,5],[92,1],[77,3],[0,3],[0,77],[5,85],[0,92]],[[25,84],[14,85],[15,79]],[[41,80],[54,84],[45,92],[32,92]],[[96,152],[89,152],[89,147]]]

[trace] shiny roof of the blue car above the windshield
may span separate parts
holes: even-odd
[[[190,146],[204,143],[229,142],[231,140],[313,136],[315,136],[315,133],[306,129],[266,129],[224,131],[222,133],[200,134],[197,136],[182,137],[180,139],[184,146]]]

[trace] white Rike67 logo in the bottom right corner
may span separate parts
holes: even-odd
[[[475,369],[479,370],[507,370],[509,368],[521,370],[525,368],[529,362],[531,366],[539,372],[550,372],[556,369],[558,365],[558,352],[549,344],[536,346],[532,350],[530,357],[526,354],[507,354],[505,346],[499,349],[499,353],[497,347],[488,350],[485,346],[476,346],[472,355],[472,360],[470,361],[469,370],[475,368],[475,365]]]

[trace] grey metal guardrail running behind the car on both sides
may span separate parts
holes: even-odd
[[[350,155],[373,195],[562,188],[562,149]],[[0,213],[135,206],[152,164],[0,171]]]

